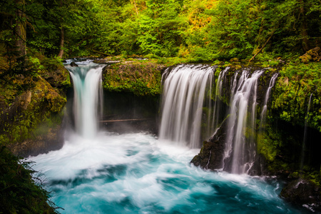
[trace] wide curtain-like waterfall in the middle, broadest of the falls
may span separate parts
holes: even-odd
[[[200,147],[203,109],[213,111],[213,70],[211,66],[180,65],[163,73],[161,139]],[[211,123],[205,120],[205,125]]]

